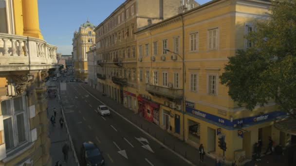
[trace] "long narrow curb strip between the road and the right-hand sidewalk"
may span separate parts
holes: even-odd
[[[78,84],[79,85],[79,84]],[[81,85],[79,85],[80,87],[82,87]],[[82,87],[86,92],[88,92],[90,95],[92,95],[88,90],[86,90],[84,87]],[[95,96],[92,95],[92,97],[98,101],[100,101],[101,103],[103,103],[104,105],[106,105],[104,102],[102,102],[101,100],[97,99]],[[190,164],[191,166],[195,166],[192,162],[190,162],[189,160],[185,159],[185,157],[183,157],[182,155],[180,155],[179,153],[175,152],[174,150],[168,148],[165,144],[163,144],[162,142],[160,142],[158,139],[154,138],[152,135],[150,135],[149,133],[145,132],[143,129],[141,129],[140,127],[138,127],[137,125],[135,125],[134,123],[132,123],[131,121],[129,121],[129,119],[127,119],[126,117],[122,116],[121,114],[119,114],[118,112],[116,112],[115,110],[113,110],[110,106],[109,106],[110,110],[113,111],[115,114],[117,114],[118,116],[122,117],[123,119],[125,119],[127,122],[129,122],[131,125],[133,125],[135,128],[139,129],[141,132],[145,133],[146,135],[148,135],[151,139],[153,139],[155,142],[157,142],[158,144],[160,144],[161,146],[165,147],[166,149],[168,149],[169,151],[171,151],[172,153],[174,153],[176,156],[180,157],[181,159],[183,159],[186,163]]]

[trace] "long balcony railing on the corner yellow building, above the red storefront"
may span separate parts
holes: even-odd
[[[167,88],[147,83],[146,91],[148,91],[152,95],[160,95],[172,100],[183,99],[183,89]]]

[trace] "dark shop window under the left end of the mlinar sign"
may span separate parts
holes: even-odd
[[[193,120],[188,119],[188,139],[200,144],[201,140],[201,125]]]

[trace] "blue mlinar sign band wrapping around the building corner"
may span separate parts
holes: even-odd
[[[233,121],[231,122],[229,119],[225,119],[220,116],[215,116],[215,115],[212,115],[212,114],[200,111],[200,110],[196,110],[196,109],[188,107],[188,106],[186,106],[185,110],[188,115],[196,116],[201,119],[207,119],[207,120],[222,124],[223,126],[227,126],[227,127],[234,127],[235,124],[237,124],[237,125],[256,124],[256,123],[260,123],[260,122],[264,122],[264,121],[273,120],[274,118],[276,118],[278,116],[286,115],[286,113],[283,111],[275,111],[275,112],[271,112],[271,113],[261,114],[259,116],[250,116],[250,117],[244,117],[244,118],[240,118],[240,119],[233,119]]]

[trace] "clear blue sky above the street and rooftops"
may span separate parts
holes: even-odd
[[[71,55],[75,30],[87,21],[100,24],[125,0],[38,0],[39,26],[57,52]],[[210,0],[196,0],[201,5]]]

